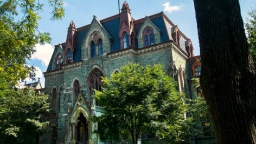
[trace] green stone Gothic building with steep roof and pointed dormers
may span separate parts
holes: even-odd
[[[44,91],[54,114],[52,130],[40,143],[104,143],[92,133],[97,122],[89,120],[103,113],[92,89],[101,90],[100,77],[110,77],[129,62],[164,65],[179,90],[192,97],[196,88],[189,79],[201,70],[197,58],[191,40],[163,12],[134,19],[124,2],[117,15],[101,20],[93,16],[91,24],[80,28],[71,22],[66,42],[55,45],[44,72]]]

